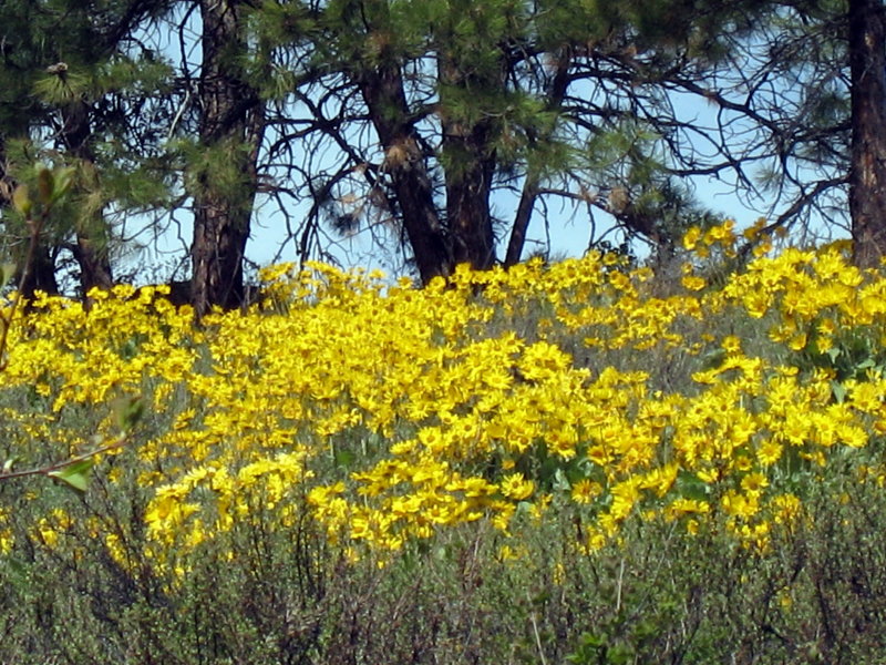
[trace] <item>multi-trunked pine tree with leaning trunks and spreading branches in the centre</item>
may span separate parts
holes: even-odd
[[[307,187],[312,214],[347,232],[373,211],[402,224],[427,282],[459,263],[487,268],[499,253],[518,262],[533,212],[557,198],[667,250],[679,219],[699,213],[679,178],[738,167],[727,147],[698,163],[691,121],[674,115],[667,93],[719,66],[718,30],[748,30],[730,8],[333,0],[266,2],[256,19],[280,66],[298,64],[292,89],[266,86],[276,101],[324,100],[305,104],[311,116],[288,119],[299,136],[346,146],[338,170]],[[704,99],[703,89],[693,94]],[[503,190],[519,200],[509,219],[493,209]],[[365,202],[356,212],[337,205],[353,191]]]

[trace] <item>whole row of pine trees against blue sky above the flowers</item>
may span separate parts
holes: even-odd
[[[78,173],[31,293],[132,278],[183,221],[168,277],[198,313],[244,300],[259,219],[280,257],[359,234],[422,282],[524,259],[559,208],[588,246],[667,255],[715,218],[704,177],[771,226],[852,227],[868,265],[886,245],[858,203],[883,188],[879,0],[40,0],[0,25],[8,254],[14,187]]]

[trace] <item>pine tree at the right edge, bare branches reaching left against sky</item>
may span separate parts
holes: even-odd
[[[859,266],[886,253],[886,10],[882,0],[792,0],[748,6],[752,38],[730,62],[741,71],[740,108],[755,127],[767,195],[793,201],[769,228],[814,213],[847,227]],[[762,140],[761,140],[762,139]]]

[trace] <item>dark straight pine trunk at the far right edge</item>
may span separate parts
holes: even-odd
[[[886,255],[886,19],[880,0],[849,0],[852,155],[849,214],[855,263]]]

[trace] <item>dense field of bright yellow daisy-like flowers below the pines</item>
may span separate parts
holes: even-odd
[[[484,533],[504,570],[557,523],[555,584],[637,524],[765,557],[830,474],[884,483],[886,279],[843,244],[718,269],[739,239],[693,231],[669,274],[590,253],[421,290],[275,266],[261,305],[199,329],[161,288],[39,300],[9,330],[7,471],[114,440],[115,403],[145,412],[85,490],[3,483],[0,556],[99,556],[167,600],[207,557],[254,563],[257,533],[312,530],[310,556],[374,571]]]

